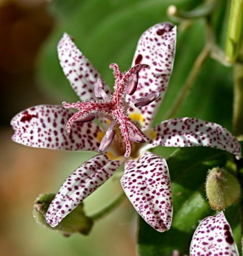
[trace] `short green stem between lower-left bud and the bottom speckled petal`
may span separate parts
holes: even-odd
[[[104,208],[100,209],[96,213],[91,214],[89,218],[93,220],[102,219],[104,216],[106,216],[108,213],[118,207],[125,198],[126,195],[122,191],[121,194],[118,195],[113,201],[110,201],[107,205],[104,206]]]

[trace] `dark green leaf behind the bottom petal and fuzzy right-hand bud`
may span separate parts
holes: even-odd
[[[208,169],[225,166],[229,157],[219,149],[186,147],[177,149],[168,158],[174,207],[172,228],[159,233],[139,218],[139,256],[171,256],[175,249],[181,255],[189,255],[198,221],[214,213],[204,191]]]

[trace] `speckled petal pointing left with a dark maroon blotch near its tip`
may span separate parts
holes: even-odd
[[[63,150],[93,150],[100,145],[101,128],[95,123],[75,123],[70,133],[66,124],[72,110],[54,105],[39,105],[18,113],[11,121],[13,141],[33,147]]]

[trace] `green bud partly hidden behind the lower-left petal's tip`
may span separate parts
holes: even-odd
[[[49,229],[59,231],[65,237],[69,237],[76,232],[87,235],[92,228],[93,220],[85,215],[83,203],[80,203],[56,227],[53,228],[46,222],[47,209],[54,197],[55,194],[43,194],[36,199],[33,211],[36,222]]]

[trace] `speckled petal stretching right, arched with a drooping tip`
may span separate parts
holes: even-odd
[[[224,127],[196,118],[175,118],[162,122],[150,130],[154,143],[145,149],[162,146],[210,146],[241,157],[241,145]]]

